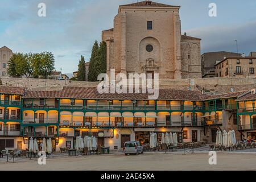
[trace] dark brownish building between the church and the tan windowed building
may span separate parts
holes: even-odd
[[[218,52],[205,52],[201,55],[201,70],[203,78],[215,77],[214,64],[222,61],[224,57],[237,57],[241,56],[240,53],[218,51]]]

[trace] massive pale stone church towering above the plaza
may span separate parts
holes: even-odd
[[[114,26],[102,31],[107,73],[159,73],[159,78],[200,78],[200,38],[181,35],[180,6],[142,1],[121,5]]]

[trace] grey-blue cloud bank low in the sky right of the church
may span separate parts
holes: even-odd
[[[256,21],[244,24],[219,24],[186,30],[187,35],[201,38],[201,52],[232,51],[249,53],[256,50]]]

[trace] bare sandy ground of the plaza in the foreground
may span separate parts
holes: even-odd
[[[47,158],[46,165],[35,159],[0,163],[0,170],[256,170],[256,153],[217,152],[217,165],[209,165],[208,152],[195,154],[144,153],[125,156],[90,155]]]

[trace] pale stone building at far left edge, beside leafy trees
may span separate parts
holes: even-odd
[[[10,57],[13,56],[13,51],[6,46],[0,48],[0,76],[7,77],[7,63]]]

